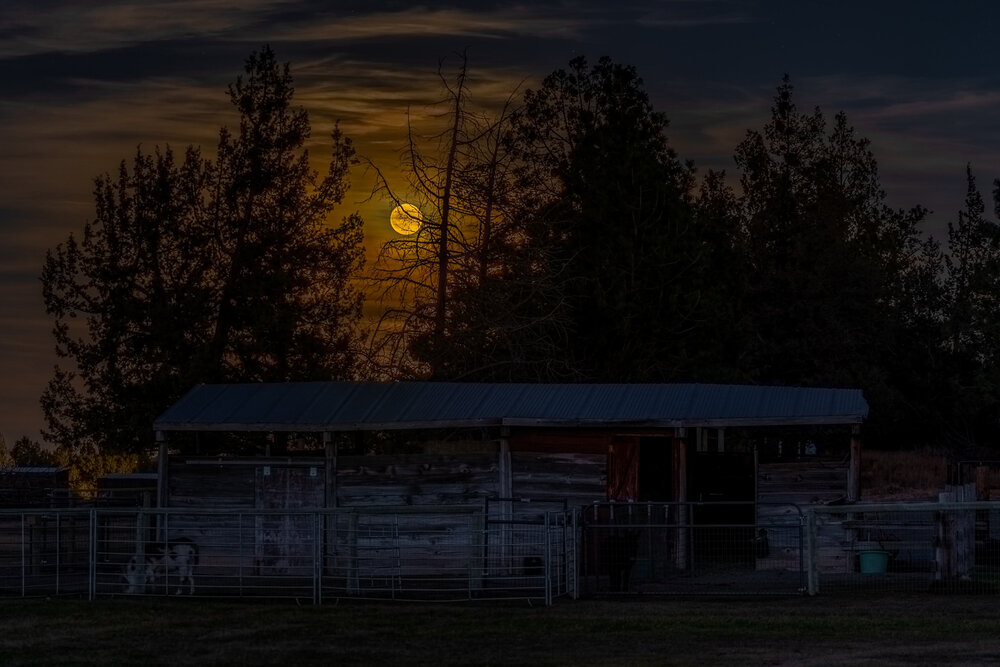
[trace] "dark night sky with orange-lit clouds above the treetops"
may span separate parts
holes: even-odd
[[[296,0],[5,0],[0,5],[0,432],[38,438],[55,363],[38,279],[45,250],[92,216],[92,179],[136,147],[200,144],[234,125],[224,90],[271,44],[292,64],[314,156],[333,121],[390,172],[439,97],[439,58],[468,49],[491,105],[577,55],[635,65],[670,140],[701,169],[733,170],[784,73],[801,109],[844,110],[872,140],[889,203],[920,203],[941,236],[971,163],[1000,176],[1000,4],[827,0],[509,3]],[[361,172],[369,245],[389,205]]]

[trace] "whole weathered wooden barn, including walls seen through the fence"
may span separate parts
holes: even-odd
[[[154,424],[160,447],[156,505],[265,513],[404,508],[421,513],[427,523],[421,530],[433,526],[451,534],[459,531],[447,522],[468,525],[469,519],[435,508],[470,516],[479,508],[488,524],[504,526],[503,557],[522,572],[541,560],[531,549],[512,547],[510,531],[544,510],[573,508],[590,528],[579,547],[582,573],[600,575],[600,585],[614,589],[620,569],[625,581],[618,585],[627,587],[633,570],[649,576],[684,570],[723,550],[725,559],[773,559],[754,544],[755,526],[767,515],[797,519],[795,505],[858,498],[860,426],[867,413],[856,389],[199,385]],[[396,524],[379,524],[389,538],[375,551],[388,550],[398,561],[398,512],[394,516]],[[260,571],[280,572],[297,558],[305,562],[294,545],[309,543],[308,519],[271,517],[257,516],[252,529],[240,528],[239,539],[249,540],[237,545],[240,551],[251,552]],[[203,519],[187,527],[173,521],[174,530],[200,533],[202,541],[212,532],[237,532]],[[359,534],[359,519],[351,521],[344,530]],[[738,541],[749,546],[730,553],[708,531],[691,537],[699,534],[690,530],[696,525],[745,526]],[[663,538],[629,526],[660,526]],[[472,532],[487,534],[486,528]],[[490,539],[484,538],[484,551]],[[357,538],[352,540],[345,549],[358,561]],[[397,546],[385,546],[392,544]],[[221,559],[235,547],[216,548]]]

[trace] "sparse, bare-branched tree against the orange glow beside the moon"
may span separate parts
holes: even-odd
[[[507,141],[512,98],[498,111],[472,107],[464,54],[453,77],[441,68],[438,75],[445,127],[426,139],[411,127],[404,151],[407,198],[419,203],[422,224],[387,241],[375,267],[383,295],[396,302],[380,322],[376,356],[396,376],[502,377],[522,356],[520,323],[544,308],[537,283],[523,289]],[[379,177],[379,189],[400,204],[401,193]]]

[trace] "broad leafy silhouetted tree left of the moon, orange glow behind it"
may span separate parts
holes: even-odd
[[[237,134],[215,162],[189,148],[137,152],[103,176],[96,216],[42,272],[57,367],[46,437],[68,450],[136,452],[152,420],[197,382],[345,378],[353,367],[361,220],[330,226],[353,148],[339,130],[319,178],[308,116],[265,48],[229,87]]]

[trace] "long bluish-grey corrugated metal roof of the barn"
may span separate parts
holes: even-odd
[[[306,382],[198,385],[157,431],[367,431],[478,425],[856,424],[859,389],[712,384]]]

